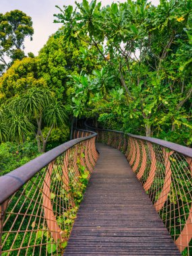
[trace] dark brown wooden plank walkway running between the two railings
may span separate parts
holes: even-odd
[[[64,255],[181,255],[125,156],[103,144],[97,149]]]

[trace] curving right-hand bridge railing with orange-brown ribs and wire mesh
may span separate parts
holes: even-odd
[[[125,154],[179,251],[192,255],[192,149],[152,137],[94,131],[98,142]]]

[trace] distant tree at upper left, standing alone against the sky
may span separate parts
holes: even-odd
[[[24,57],[24,39],[30,36],[32,40],[33,33],[32,20],[26,13],[20,10],[0,13],[0,72],[12,65],[15,59]],[[5,57],[11,61],[7,63]]]

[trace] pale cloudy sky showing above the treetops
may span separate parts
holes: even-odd
[[[102,5],[124,1],[102,0]],[[82,2],[82,0],[77,0],[77,2]],[[151,0],[151,2],[158,5],[159,0]],[[26,54],[32,52],[34,55],[38,55],[38,51],[46,44],[49,36],[61,26],[61,24],[53,23],[53,14],[59,13],[59,9],[55,5],[59,5],[59,7],[75,6],[75,0],[0,0],[0,13],[19,9],[32,18],[34,35],[32,41],[26,38],[24,42]]]

